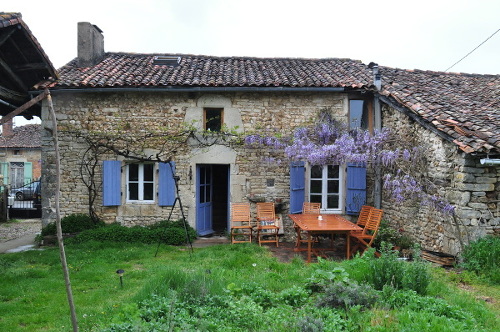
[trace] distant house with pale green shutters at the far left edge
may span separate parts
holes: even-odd
[[[9,121],[3,125],[0,137],[0,171],[5,185],[19,188],[40,179],[40,130],[39,124],[12,128],[12,121]]]

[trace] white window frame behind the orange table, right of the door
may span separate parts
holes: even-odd
[[[345,170],[346,167],[345,165],[339,165],[339,207],[337,209],[328,209],[326,208],[327,202],[328,202],[328,166],[335,166],[335,165],[323,165],[322,167],[322,197],[321,197],[321,213],[331,213],[331,214],[343,214],[344,213],[344,208],[345,208],[345,195],[346,195],[346,174]],[[310,201],[311,199],[311,169],[312,165],[307,165],[306,166],[306,200]]]

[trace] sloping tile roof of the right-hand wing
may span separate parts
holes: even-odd
[[[382,91],[467,153],[500,153],[500,76],[381,67]]]

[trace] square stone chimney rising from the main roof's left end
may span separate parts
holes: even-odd
[[[103,57],[102,30],[89,22],[78,22],[78,67],[96,65]]]

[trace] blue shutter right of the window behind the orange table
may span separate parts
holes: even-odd
[[[366,166],[347,164],[346,214],[359,214],[366,204]]]

